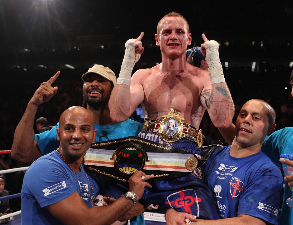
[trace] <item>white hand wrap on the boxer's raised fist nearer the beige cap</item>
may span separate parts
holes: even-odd
[[[125,43],[125,54],[121,65],[118,84],[130,85],[130,78],[134,64],[139,61],[140,54],[135,52],[135,39],[129,39]]]

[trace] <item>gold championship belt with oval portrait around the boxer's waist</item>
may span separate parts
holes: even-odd
[[[183,123],[184,118],[179,117],[179,111],[172,108],[170,108],[170,111],[170,114],[162,116],[163,120],[145,120],[142,131],[155,132],[162,140],[171,144],[181,138],[186,138],[196,142],[197,146],[201,148],[204,142],[203,138],[205,138],[202,130]]]

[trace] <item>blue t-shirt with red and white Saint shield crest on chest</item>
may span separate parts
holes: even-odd
[[[277,224],[282,174],[261,151],[235,158],[230,147],[215,149],[204,174],[221,218],[246,214]]]

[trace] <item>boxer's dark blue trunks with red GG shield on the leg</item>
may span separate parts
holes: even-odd
[[[141,131],[138,137],[170,145],[154,132]],[[171,146],[194,153],[198,157],[201,155],[196,142],[186,138],[173,142]],[[190,213],[200,219],[219,219],[213,194],[204,184],[202,167],[180,178],[152,182],[152,188],[145,189],[141,200]]]

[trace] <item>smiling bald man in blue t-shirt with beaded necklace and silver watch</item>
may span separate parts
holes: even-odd
[[[23,224],[111,224],[133,209],[145,187],[151,187],[144,180],[154,175],[139,171],[129,179],[123,197],[108,206],[92,207],[99,187],[81,162],[95,134],[94,118],[85,108],[74,106],[61,114],[59,148],[36,160],[24,176]]]

